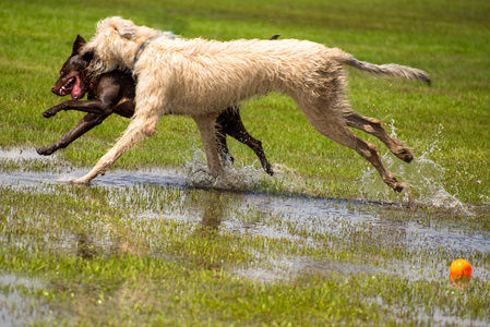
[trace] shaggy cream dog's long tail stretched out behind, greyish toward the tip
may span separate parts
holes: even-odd
[[[354,58],[352,55],[346,53],[337,48],[331,50],[333,52],[331,58],[333,58],[335,61],[354,66],[358,70],[366,71],[371,74],[389,75],[407,80],[421,81],[429,86],[431,84],[431,80],[425,71],[395,63],[378,65],[364,61],[359,61],[356,58]]]

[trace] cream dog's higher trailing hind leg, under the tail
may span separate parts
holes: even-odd
[[[361,130],[380,138],[380,141],[383,142],[399,159],[406,162],[410,162],[414,159],[410,149],[404,146],[401,141],[387,135],[378,119],[364,117],[354,111],[345,112],[344,118],[346,119],[348,126]]]

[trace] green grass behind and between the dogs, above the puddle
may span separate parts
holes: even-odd
[[[49,88],[74,36],[80,33],[89,38],[100,17],[120,14],[186,37],[268,38],[280,34],[340,47],[361,60],[397,62],[428,71],[433,78],[431,88],[411,82],[381,81],[352,71],[352,107],[366,116],[389,117],[386,122],[393,119],[398,137],[416,147],[416,157],[438,144],[439,150],[431,157],[446,170],[446,190],[465,203],[489,202],[490,174],[480,169],[488,164],[490,147],[486,128],[490,122],[486,110],[489,49],[483,33],[489,29],[485,14],[489,9],[485,1],[471,2],[464,9],[445,1],[430,5],[380,2],[369,7],[355,1],[258,2],[246,8],[235,1],[194,2],[2,3],[0,102],[7,109],[0,145],[47,145],[74,125],[82,113],[60,112],[50,120],[41,117],[45,109],[60,101]],[[322,180],[318,189],[324,196],[358,196],[360,171],[369,166],[352,150],[319,135],[289,98],[271,95],[247,102],[242,116],[252,135],[264,141],[272,162],[302,177]],[[93,166],[127,124],[128,120],[111,117],[62,155],[79,167]],[[364,134],[362,137],[385,150],[377,140]],[[189,159],[193,153],[190,140],[201,146],[190,119],[166,117],[157,135],[124,155],[116,168],[182,165],[182,158]],[[237,165],[255,162],[250,149],[235,141],[230,145]]]

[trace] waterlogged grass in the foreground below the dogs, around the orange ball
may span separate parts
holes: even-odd
[[[414,211],[383,210],[385,227],[328,216],[295,220],[243,205],[242,194],[152,184],[7,186],[0,196],[1,267],[43,281],[3,292],[21,288],[24,296],[49,305],[53,313],[39,323],[321,325],[490,317],[488,272],[457,288],[446,271],[459,255],[489,271],[489,252],[407,246],[407,232],[390,230],[390,222],[420,219]],[[421,216],[425,223],[458,223],[452,215]],[[258,281],[250,277],[254,271]]]

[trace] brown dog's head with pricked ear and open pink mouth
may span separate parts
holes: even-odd
[[[87,92],[88,83],[82,76],[93,58],[93,52],[80,53],[82,47],[86,44],[80,35],[73,44],[71,56],[63,63],[60,70],[60,77],[55,83],[51,92],[58,96],[71,95],[73,100],[82,99]]]

